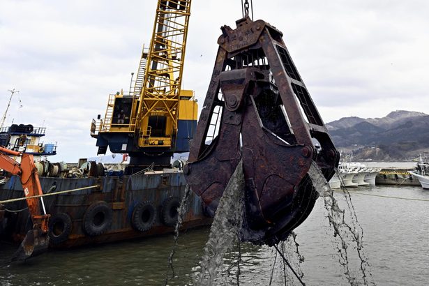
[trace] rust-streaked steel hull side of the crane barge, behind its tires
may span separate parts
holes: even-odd
[[[52,248],[70,248],[91,243],[122,241],[172,233],[174,232],[174,227],[165,225],[160,218],[160,213],[163,212],[163,203],[168,197],[181,200],[186,186],[183,172],[166,173],[162,176],[160,174],[144,174],[121,177],[89,177],[86,179],[40,178],[43,190],[48,190],[54,182],[57,182],[58,186],[54,192],[82,187],[82,185],[93,186],[96,183],[102,188],[99,190],[80,190],[76,193],[45,198],[47,213],[50,213],[52,218],[50,221],[57,221],[62,227],[55,229],[54,226],[50,226],[50,247]],[[13,176],[3,186],[0,192],[0,199],[5,197],[22,197],[19,178],[16,179]],[[89,235],[84,231],[85,220],[88,220],[88,215],[85,216],[85,214],[91,209],[91,205],[98,202],[105,202],[107,208],[112,211],[112,215],[103,217],[98,216],[97,213],[92,213],[93,219],[99,219],[101,224],[109,223],[110,226],[101,234]],[[135,230],[132,226],[133,211],[140,202],[150,202],[156,213],[153,225],[144,232]],[[10,209],[24,209],[24,204],[25,202],[16,202],[9,204],[8,207]],[[211,223],[212,218],[202,213],[201,204],[200,197],[195,194],[190,196],[183,228],[198,227]],[[3,213],[8,216],[10,225],[8,225],[8,232],[0,232],[0,234],[10,236],[13,240],[21,242],[28,231],[28,211],[10,213],[3,212],[0,209],[0,215]],[[109,211],[107,211],[108,213]],[[68,221],[65,218],[70,218],[70,220]],[[53,237],[54,239],[52,239]]]

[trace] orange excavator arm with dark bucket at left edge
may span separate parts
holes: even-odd
[[[10,155],[20,156],[21,163],[10,158]],[[24,190],[24,195],[27,197],[27,205],[29,206],[31,220],[33,221],[33,229],[25,236],[13,260],[27,259],[38,253],[42,253],[49,244],[47,233],[50,215],[46,213],[43,198],[33,197],[35,195],[43,195],[33,155],[0,147],[0,169],[10,172],[10,174],[15,176],[20,176],[22,190]],[[43,212],[40,209],[40,203],[42,204]]]

